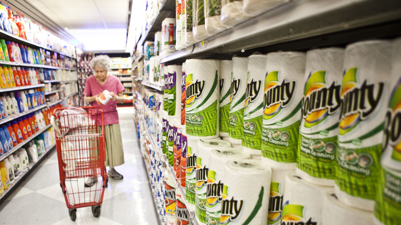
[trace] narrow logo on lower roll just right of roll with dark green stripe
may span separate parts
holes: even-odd
[[[283,196],[280,195],[280,183],[270,183],[269,213],[267,216],[268,224],[278,224],[281,220],[281,206]]]

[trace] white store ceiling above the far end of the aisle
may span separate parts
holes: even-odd
[[[125,50],[130,0],[28,2],[81,41],[85,46],[82,50]]]

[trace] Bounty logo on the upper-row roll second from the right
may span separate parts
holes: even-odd
[[[340,135],[347,134],[360,121],[368,119],[383,95],[383,82],[367,84],[364,80],[358,85],[356,73],[357,68],[351,68],[344,71],[342,78]]]

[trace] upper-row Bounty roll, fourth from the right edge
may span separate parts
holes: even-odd
[[[305,59],[303,52],[267,54],[262,161],[272,167],[295,168]]]

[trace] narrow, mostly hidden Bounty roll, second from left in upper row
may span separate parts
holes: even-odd
[[[231,72],[232,61],[220,60],[220,137],[229,137]]]

